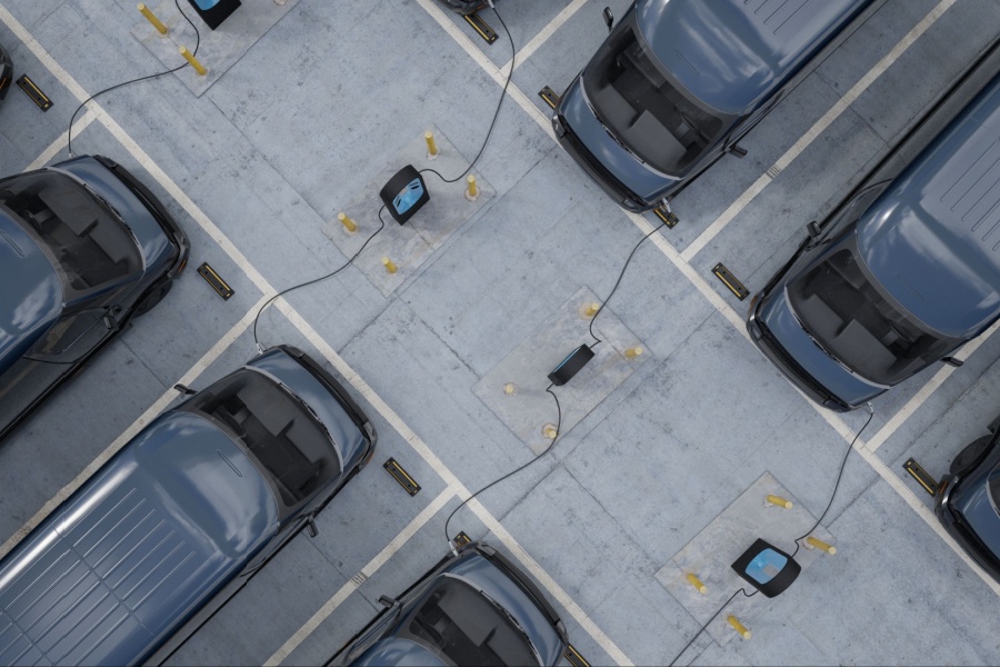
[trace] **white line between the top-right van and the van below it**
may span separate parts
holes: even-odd
[[[842,98],[837,100],[832,107],[830,107],[829,111],[823,113],[822,118],[820,118],[816,123],[807,130],[802,137],[799,138],[798,141],[792,145],[790,149],[784,151],[778,160],[772,165],[768,171],[771,173],[780,173],[784,169],[791,165],[792,160],[799,157],[803,150],[806,150],[810,143],[812,143],[817,137],[819,137],[830,125],[837,120],[841,113],[843,113],[854,101],[864,92],[871,83],[878,79],[889,67],[896,62],[896,60],[903,54],[903,52],[910,48],[910,46],[917,41],[921,34],[923,34],[931,26],[934,24],[941,14],[948,10],[949,7],[954,4],[954,0],[941,0],[926,17],[923,17],[919,23],[917,23],[912,30],[907,32],[906,36],[897,44],[890,50],[886,56],[879,60],[874,67],[868,70],[861,79],[858,80],[854,86],[848,90]],[[727,208],[719,218],[717,218],[711,225],[709,225],[704,231],[702,231],[697,239],[694,239],[690,246],[684,248],[684,251],[681,252],[681,258],[684,261],[691,261],[698,252],[704,248],[709,241],[716,238],[722,229],[729,225],[729,222],[736,218],[743,208],[750,203],[750,201],[760,195],[760,192],[767,187],[767,185],[771,182],[771,177],[766,172],[758,178],[752,186],[747,188],[747,190],[740,195],[740,197],[729,207]]]

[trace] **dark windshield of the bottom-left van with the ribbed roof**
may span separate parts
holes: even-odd
[[[200,391],[182,409],[224,424],[294,506],[340,475],[326,429],[291,394],[260,372],[239,370]]]

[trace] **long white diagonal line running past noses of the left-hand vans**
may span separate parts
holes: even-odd
[[[427,0],[418,0],[418,2],[427,2]],[[433,8],[437,9],[437,8]],[[443,18],[443,17],[442,17]],[[56,60],[46,51],[46,49],[36,40],[21,23],[7,11],[6,8],[0,6],[0,20],[2,20],[8,28],[22,41],[24,44],[34,53],[34,56],[52,72],[52,74],[59,79],[59,81],[66,86],[68,90],[70,90],[77,99],[81,102],[87,100],[89,96],[87,91],[67,72]],[[454,28],[453,24],[447,22],[447,26],[450,28]],[[467,40],[468,41],[468,40]],[[481,56],[481,53],[480,53]],[[489,60],[486,60],[489,63]],[[500,73],[499,69],[497,69],[492,63],[489,66],[493,69],[494,79],[498,79],[500,83],[506,81],[506,77]],[[514,91],[513,86],[511,86],[511,90],[508,91],[514,100],[522,107],[527,106],[528,108],[534,109],[530,101],[521,93],[520,91]],[[211,238],[226,251],[227,255],[232,259],[233,263],[236,263],[240,269],[247,273],[248,278],[260,289],[264,297],[269,297],[270,295],[274,295],[277,290],[263,278],[263,276],[247,260],[242,252],[229,240],[229,238],[209,219],[209,217],[196,205],[183,190],[162,170],[160,167],[149,157],[149,155],[142,150],[142,148],[124,131],[124,129],[118,125],[108,113],[101,108],[101,106],[96,101],[88,102],[88,108],[96,111],[98,113],[98,118],[100,122],[116,137],[116,139],[121,142],[122,147],[128,150],[132,157],[152,176],[173,197],[178,203],[188,212],[188,215],[209,235]],[[551,127],[549,128],[549,133],[552,136]],[[317,349],[321,350],[323,356],[332,364],[337,369],[341,372],[341,375],[357,389],[361,392],[371,405],[389,421],[390,425],[396,428],[401,436],[410,444],[411,447],[421,456],[421,458],[427,461],[431,468],[448,484],[449,486],[453,486],[456,489],[461,490],[461,495],[463,497],[469,496],[468,489],[462,485],[454,474],[449,470],[444,464],[427,447],[427,445],[399,418],[398,415],[393,410],[391,410],[381,397],[379,397],[374,390],[367,384],[361,377],[350,368],[347,362],[331,348],[317,331],[308,323],[306,320],[291,308],[291,306],[283,299],[279,298],[276,300],[274,306],[277,306],[288,318],[289,320],[299,329],[299,331],[306,336],[309,341],[317,347]],[[150,408],[152,409],[152,408]],[[121,438],[119,438],[121,439]],[[116,440],[117,442],[118,440]],[[123,440],[122,444],[127,441]],[[120,447],[120,445],[119,445]],[[110,448],[109,448],[110,449]],[[89,469],[89,468],[88,468]],[[58,504],[57,504],[58,505]],[[472,505],[472,504],[470,504]],[[54,506],[49,508],[48,511],[54,509]],[[41,514],[41,512],[39,512]],[[48,514],[48,512],[46,512]],[[480,511],[477,511],[477,515],[480,515],[480,518],[487,517],[492,520],[496,525],[499,526],[499,522],[493,518],[486,508],[482,508]],[[37,515],[38,516],[38,515]],[[43,517],[44,515],[42,515]],[[500,536],[500,534],[498,534]],[[18,538],[20,539],[20,538]],[[512,551],[517,552],[522,550],[520,545],[508,534],[503,531],[503,535],[500,537],[503,546]],[[538,571],[541,571],[538,568]],[[546,575],[541,583],[548,581],[550,584],[554,584],[554,580],[551,577]],[[547,587],[548,588],[548,587]],[[554,589],[550,589],[556,597],[568,598],[569,596],[561,588],[556,587]],[[616,656],[616,659],[619,659],[622,664],[631,664],[630,660],[624,658],[624,654],[618,646],[614,645],[611,639],[602,633],[597,625],[583,613],[582,608],[579,605],[573,603],[572,606],[568,607],[570,614],[577,619],[577,621],[581,625],[581,627],[588,628],[591,630],[591,637],[593,640],[603,648],[608,655]],[[617,656],[620,656],[620,659]]]

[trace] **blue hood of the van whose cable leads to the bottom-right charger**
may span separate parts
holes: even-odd
[[[812,340],[799,323],[784,289],[768,297],[759,320],[816,382],[844,405],[857,408],[886,391],[887,387],[850,372]]]

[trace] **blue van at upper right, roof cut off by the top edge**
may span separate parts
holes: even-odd
[[[879,0],[637,0],[560,100],[559,142],[630,211],[666,206]]]

